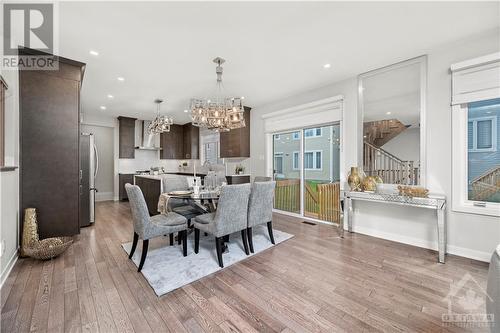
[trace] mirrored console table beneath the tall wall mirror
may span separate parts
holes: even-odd
[[[427,198],[407,197],[398,194],[378,194],[373,192],[344,191],[344,218],[341,219],[340,233],[344,236],[344,224],[352,232],[352,201],[370,201],[402,206],[434,209],[437,215],[438,252],[439,262],[444,263],[446,254],[446,197],[430,194]]]

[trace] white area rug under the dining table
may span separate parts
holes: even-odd
[[[274,240],[279,244],[293,235],[274,229]],[[174,289],[201,279],[204,276],[215,273],[222,268],[217,262],[215,252],[215,237],[204,236],[200,233],[200,251],[194,253],[194,232],[188,235],[188,255],[182,256],[182,245],[169,245],[169,238],[163,237],[160,242],[150,242],[148,256],[141,273],[154,289],[156,295],[164,295]],[[224,267],[228,267],[238,261],[251,257],[272,246],[267,233],[267,226],[262,225],[253,228],[253,246],[255,253],[245,254],[241,234],[232,234],[229,243],[226,243],[229,252],[222,254]],[[125,252],[130,253],[132,242],[122,244]],[[139,240],[135,253],[132,257],[135,265],[139,265],[141,258],[142,241]]]

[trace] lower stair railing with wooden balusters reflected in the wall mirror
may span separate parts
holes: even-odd
[[[414,161],[402,161],[370,142],[363,143],[363,170],[367,176],[380,176],[389,184],[417,185],[419,169]]]

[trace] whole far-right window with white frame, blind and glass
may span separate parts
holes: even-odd
[[[500,216],[500,55],[451,66],[452,209]]]

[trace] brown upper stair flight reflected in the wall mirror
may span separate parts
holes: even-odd
[[[408,127],[410,125],[404,125],[397,119],[369,121],[363,124],[363,138],[365,142],[382,147]]]

